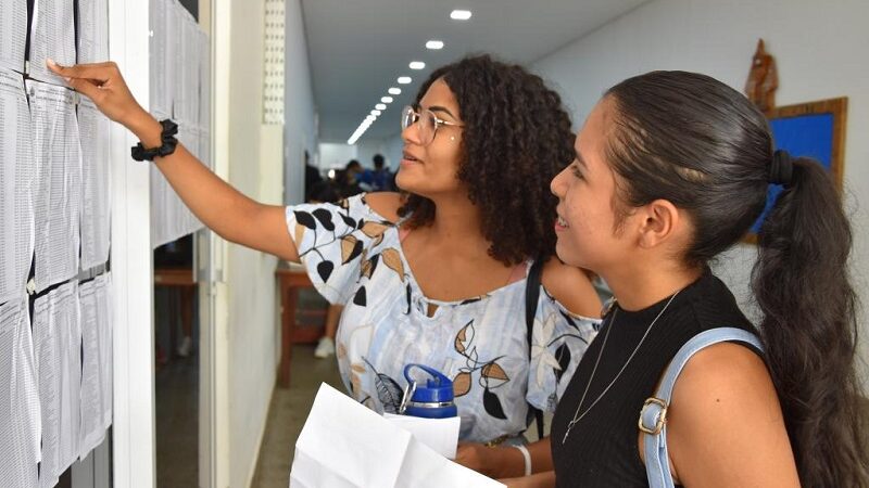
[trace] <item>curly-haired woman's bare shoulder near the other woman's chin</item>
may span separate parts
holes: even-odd
[[[543,265],[540,281],[550,295],[570,312],[589,318],[601,317],[601,299],[584,270],[551,257]]]

